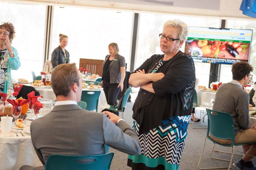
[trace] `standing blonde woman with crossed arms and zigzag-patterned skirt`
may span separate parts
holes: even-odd
[[[140,155],[128,155],[133,170],[179,169],[188,122],[193,109],[195,66],[179,49],[188,26],[169,20],[163,26],[160,48],[130,75],[129,84],[140,87],[133,106],[133,129],[142,145]]]

